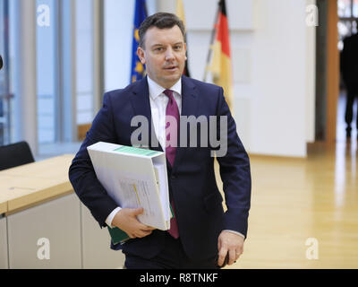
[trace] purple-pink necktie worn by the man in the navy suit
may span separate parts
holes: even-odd
[[[169,142],[166,143],[166,159],[173,168],[179,130],[179,109],[173,97],[173,91],[166,90],[164,91],[164,94],[169,98],[166,106],[166,142]],[[176,126],[172,124],[173,121],[176,121]],[[171,143],[175,143],[175,146],[172,146]],[[171,236],[177,239],[179,238],[179,230],[175,219],[175,206],[173,199],[171,204],[174,217],[170,220],[170,230],[168,230],[168,232]]]

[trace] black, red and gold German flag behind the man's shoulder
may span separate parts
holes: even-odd
[[[209,70],[212,73],[213,82],[218,86],[223,87],[226,96],[226,102],[229,108],[232,109],[233,83],[230,54],[230,35],[227,23],[225,0],[220,0],[218,3],[217,21],[215,22],[212,35],[215,38],[212,37],[210,45],[207,71]],[[212,57],[210,57],[211,52]],[[206,75],[204,80],[206,80]]]

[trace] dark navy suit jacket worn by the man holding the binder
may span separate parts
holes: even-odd
[[[131,119],[138,115],[147,117],[151,123],[147,78],[105,94],[103,107],[93,120],[69,170],[76,194],[101,227],[107,226],[107,216],[117,204],[96,178],[87,146],[99,141],[132,145],[131,135],[138,127],[131,126]],[[209,116],[227,116],[227,152],[226,156],[217,157],[228,207],[226,213],[223,211],[223,198],[217,189],[214,158],[210,156],[210,151],[215,148],[210,143],[200,143],[200,125],[197,130],[198,146],[189,146],[188,129],[187,147],[177,148],[173,167],[167,162],[169,192],[175,203],[183,249],[192,260],[205,260],[217,254],[217,238],[221,230],[236,230],[245,237],[247,235],[251,200],[250,163],[236,133],[234,118],[222,88],[183,76],[182,116],[205,116],[208,119]],[[149,125],[149,135],[153,129]],[[162,151],[160,145],[155,147],[152,144],[150,136],[148,145],[152,150]],[[111,248],[123,248],[124,253],[151,258],[163,247],[164,235],[164,231],[154,230],[147,237],[130,239],[123,246],[111,245]]]

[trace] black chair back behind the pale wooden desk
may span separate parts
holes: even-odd
[[[29,143],[20,142],[0,146],[0,170],[34,162]]]

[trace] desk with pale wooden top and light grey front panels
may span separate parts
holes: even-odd
[[[0,171],[0,214],[5,214],[0,217],[0,269],[124,265],[124,255],[109,248],[107,229],[98,227],[73,194],[72,158],[66,154]],[[38,239],[48,239],[49,260],[38,258],[43,248]]]

